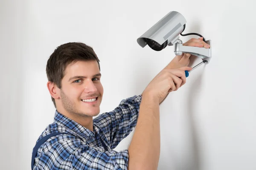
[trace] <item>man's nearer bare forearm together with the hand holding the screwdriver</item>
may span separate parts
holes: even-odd
[[[143,92],[140,113],[129,152],[129,170],[156,170],[160,156],[159,104],[186,83],[185,70],[164,68]]]

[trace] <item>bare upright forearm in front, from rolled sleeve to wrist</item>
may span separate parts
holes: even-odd
[[[131,144],[129,170],[156,170],[160,156],[159,101],[143,95]]]

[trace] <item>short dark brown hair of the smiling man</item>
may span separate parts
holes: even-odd
[[[64,71],[67,65],[77,61],[90,60],[96,60],[99,65],[99,59],[92,47],[81,42],[62,44],[54,50],[47,61],[46,74],[48,81],[53,82],[58,88],[61,88],[61,80],[64,77]],[[56,108],[55,99],[52,98],[52,102]]]

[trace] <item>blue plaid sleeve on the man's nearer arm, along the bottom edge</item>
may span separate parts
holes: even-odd
[[[39,149],[40,150],[40,149]],[[74,136],[54,137],[35,158],[34,170],[127,170],[128,150],[104,152]]]

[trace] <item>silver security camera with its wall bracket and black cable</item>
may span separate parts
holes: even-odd
[[[211,40],[206,41],[203,36],[197,33],[182,34],[185,28],[186,20],[183,15],[177,11],[171,11],[140,36],[137,39],[137,42],[142,48],[148,45],[155,51],[161,51],[166,48],[167,45],[173,45],[176,55],[190,53],[202,58],[203,61],[206,61],[204,62],[205,64],[209,64],[212,57]],[[208,43],[210,48],[183,46],[182,41],[179,39],[179,35],[198,35],[203,37],[204,42]]]

